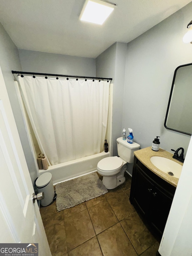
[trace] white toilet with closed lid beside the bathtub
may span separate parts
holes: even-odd
[[[97,165],[98,173],[103,176],[103,184],[107,189],[113,189],[125,182],[125,171],[127,163],[133,163],[134,151],[138,150],[140,145],[137,143],[128,143],[123,137],[117,139],[118,156],[111,156],[101,159]]]

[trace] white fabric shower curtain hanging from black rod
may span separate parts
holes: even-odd
[[[102,152],[110,82],[18,78],[35,137],[49,165]]]

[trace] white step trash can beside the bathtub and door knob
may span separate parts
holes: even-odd
[[[48,206],[55,200],[55,191],[53,188],[52,174],[43,173],[35,182],[38,193],[44,192],[44,199],[40,200],[41,206]]]

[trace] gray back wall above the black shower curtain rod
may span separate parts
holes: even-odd
[[[95,77],[95,59],[19,49],[22,71]]]

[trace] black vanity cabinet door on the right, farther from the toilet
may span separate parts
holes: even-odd
[[[154,188],[152,192],[150,222],[161,234],[163,234],[172,201],[173,197],[171,195],[165,193],[160,188]]]

